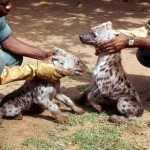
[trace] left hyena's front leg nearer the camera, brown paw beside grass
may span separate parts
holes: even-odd
[[[62,112],[60,111],[59,107],[49,99],[38,101],[38,104],[48,109],[52,113],[52,115],[55,116],[56,122],[63,124],[68,121],[68,118],[62,115]]]

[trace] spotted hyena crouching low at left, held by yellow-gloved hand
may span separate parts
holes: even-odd
[[[82,75],[86,66],[78,57],[57,47],[54,48],[55,50],[57,55],[48,58],[49,62],[52,61],[55,66],[69,70],[72,75]],[[59,107],[52,102],[53,98],[69,106],[76,114],[84,113],[82,108],[77,107],[69,97],[61,93],[60,80],[51,83],[34,78],[31,81],[26,81],[21,88],[2,99],[0,102],[0,119],[1,121],[2,117],[22,119],[22,113],[38,108],[48,109],[58,123],[67,122],[67,117],[63,116]]]

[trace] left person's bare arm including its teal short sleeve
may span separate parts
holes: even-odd
[[[14,54],[40,60],[52,55],[51,51],[43,51],[13,37],[11,28],[7,24],[5,17],[0,17],[0,45],[3,49]]]

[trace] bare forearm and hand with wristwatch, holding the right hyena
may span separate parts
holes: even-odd
[[[129,48],[128,39],[130,36],[120,34],[112,40],[105,41],[96,47],[96,53],[114,53],[120,51],[123,48]],[[138,47],[141,49],[150,50],[150,36],[148,37],[134,37],[134,45],[132,47]]]

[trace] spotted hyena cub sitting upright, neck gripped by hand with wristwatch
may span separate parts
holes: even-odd
[[[111,22],[95,26],[88,33],[80,35],[80,40],[93,46],[110,40],[119,34],[111,26]],[[118,114],[110,116],[110,121],[116,123],[135,119],[143,114],[140,98],[122,68],[120,52],[98,55],[93,82],[84,90],[79,103],[85,101],[97,112],[101,112],[101,105],[104,103],[115,107]]]

